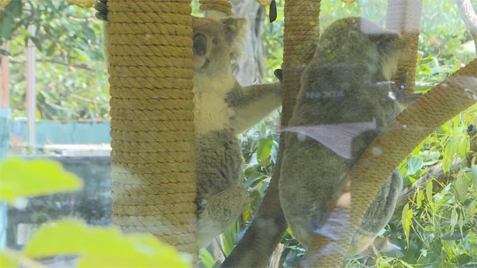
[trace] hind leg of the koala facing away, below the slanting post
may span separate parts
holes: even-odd
[[[366,210],[348,249],[348,255],[356,255],[365,250],[388,224],[396,208],[397,199],[402,190],[402,178],[395,170],[386,183],[379,189],[373,202]]]

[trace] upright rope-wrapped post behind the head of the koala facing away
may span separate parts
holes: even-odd
[[[402,34],[406,48],[399,59],[396,74],[391,78],[399,84],[407,73],[406,93],[414,92],[416,84],[417,47],[422,15],[422,0],[389,0],[386,15],[386,29]]]

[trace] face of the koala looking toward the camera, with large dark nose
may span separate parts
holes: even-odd
[[[199,73],[229,70],[231,60],[238,57],[245,23],[245,19],[237,17],[193,18],[194,70]]]

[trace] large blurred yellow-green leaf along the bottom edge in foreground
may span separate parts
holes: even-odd
[[[188,260],[152,234],[123,235],[67,219],[40,227],[23,249],[29,257],[78,255],[78,267],[190,267]]]

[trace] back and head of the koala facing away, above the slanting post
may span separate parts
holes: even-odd
[[[316,127],[322,139],[351,151],[351,157],[345,158],[311,135],[288,135],[280,200],[290,228],[305,246],[310,243],[310,233],[318,232],[325,203],[353,163],[399,113],[399,106],[389,98],[389,73],[383,69],[383,61],[392,59],[386,55],[386,44],[393,35],[383,33],[362,18],[335,21],[322,34],[312,63],[302,75],[289,125]],[[374,129],[345,143],[354,126],[372,123]]]

